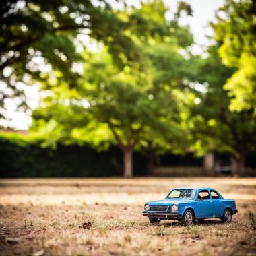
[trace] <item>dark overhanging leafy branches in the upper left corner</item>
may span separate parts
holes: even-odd
[[[79,74],[75,63],[82,61],[77,45],[84,47],[78,34],[86,34],[108,46],[117,65],[139,58],[133,42],[123,31],[126,22],[113,13],[110,5],[99,0],[3,0],[0,7],[0,79],[5,84],[0,96],[0,117],[6,98],[26,104],[20,82],[44,82],[51,76],[74,86]],[[22,108],[23,109],[23,108]]]

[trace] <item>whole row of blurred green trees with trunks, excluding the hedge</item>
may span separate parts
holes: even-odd
[[[40,106],[31,129],[46,138],[44,145],[88,143],[102,150],[117,144],[125,177],[133,175],[135,149],[148,156],[149,170],[163,152],[228,151],[243,174],[247,152],[256,150],[254,1],[226,1],[226,17],[219,12],[212,24],[216,42],[204,59],[193,54],[193,36],[179,24],[181,13],[192,15],[184,2],[172,20],[166,20],[161,0],[138,9],[124,5],[121,11],[105,1],[72,1],[69,6],[61,0],[35,0],[17,6],[7,1],[2,8],[3,24],[12,25],[2,26],[1,33],[11,36],[1,36],[0,43],[9,47],[1,53],[1,67],[13,67],[4,77],[13,92],[18,92],[18,80],[40,82]],[[24,24],[11,15],[22,17]],[[22,25],[30,28],[28,21],[38,17],[46,31],[37,38]],[[94,38],[97,51],[75,49],[82,45],[77,39],[82,33]],[[31,64],[35,56],[51,69],[36,69]],[[80,72],[75,72],[77,63]]]

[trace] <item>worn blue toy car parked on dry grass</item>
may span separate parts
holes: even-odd
[[[224,199],[215,189],[181,187],[172,189],[164,200],[146,203],[142,214],[152,224],[160,220],[179,220],[183,225],[189,225],[206,218],[220,218],[228,223],[237,212],[236,202]]]

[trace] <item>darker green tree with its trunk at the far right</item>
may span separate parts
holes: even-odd
[[[222,64],[218,44],[210,46],[208,57],[201,61],[199,82],[206,92],[197,92],[201,103],[191,112],[197,150],[231,152],[236,162],[236,174],[245,174],[245,156],[255,150],[256,122],[252,110],[233,113],[228,108],[230,98],[223,84],[236,71]]]

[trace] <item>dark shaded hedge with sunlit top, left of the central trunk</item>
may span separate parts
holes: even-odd
[[[97,152],[89,146],[42,148],[42,138],[16,133],[0,135],[0,177],[99,177],[122,174],[117,148]],[[145,158],[135,153],[135,174],[145,174]]]

